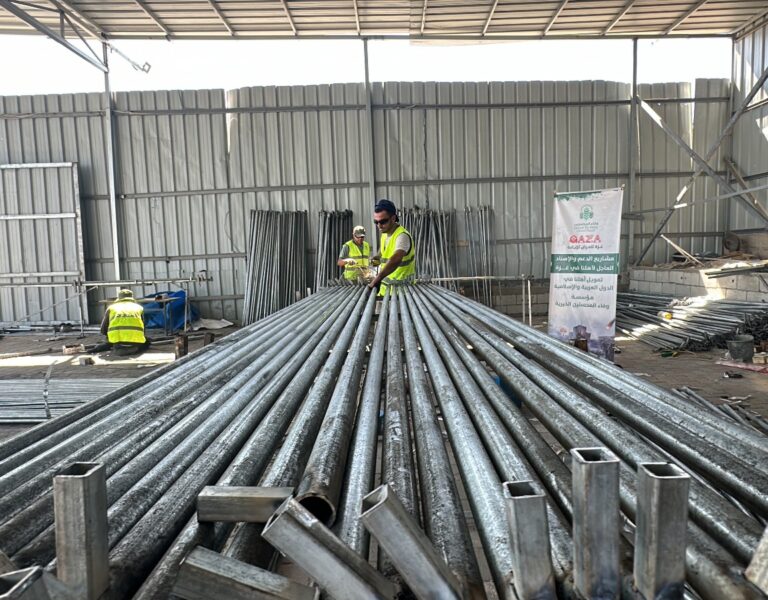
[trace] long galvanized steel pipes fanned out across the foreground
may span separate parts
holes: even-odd
[[[620,506],[645,531],[637,474],[669,461],[694,475],[687,526],[677,520],[687,527],[677,539],[688,545],[690,593],[760,597],[743,568],[768,517],[766,436],[444,288],[398,288],[378,319],[376,300],[362,287],[327,288],[0,445],[0,550],[17,566],[53,566],[51,477],[98,462],[109,507],[105,598],[168,597],[185,559],[210,557],[190,557],[198,546],[262,567],[277,547],[308,570],[315,564],[312,577],[331,596],[393,598],[404,581],[417,589],[403,561],[407,532],[437,557],[425,577],[455,592],[434,597],[484,597],[478,563],[486,562],[506,598],[510,581],[525,582],[520,548],[531,541],[510,528],[506,502],[532,486],[548,520],[533,541],[551,548],[544,556],[558,597],[573,598],[584,559],[574,557],[576,516],[613,523],[618,544]],[[581,454],[566,462],[563,449]],[[572,478],[598,454],[615,455],[603,461],[615,467],[615,519],[603,518],[609,504],[585,503]],[[388,487],[370,494],[381,483]],[[200,523],[197,497],[214,484],[290,487],[293,498],[266,528]],[[383,506],[391,512],[378,514],[390,520],[377,522],[373,509]],[[413,527],[384,543],[376,532],[386,523]],[[291,527],[296,535],[285,535]],[[631,530],[622,528],[624,557]],[[376,551],[369,531],[379,540],[378,573],[367,562]],[[318,562],[322,552],[333,566]],[[308,554],[317,560],[302,562]],[[653,558],[665,563],[663,551]],[[622,560],[619,571],[618,561],[615,577],[630,576],[631,564]],[[333,581],[378,591],[338,596]]]

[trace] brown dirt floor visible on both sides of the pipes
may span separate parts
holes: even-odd
[[[542,325],[539,323],[538,328]],[[235,331],[235,328],[215,332],[219,338]],[[45,354],[18,358],[0,359],[0,379],[32,378],[43,379],[51,369],[52,378],[115,378],[141,377],[149,370],[174,360],[173,343],[158,344],[136,358],[111,358],[107,354],[94,357],[95,364],[80,365],[79,358],[91,355],[67,356],[61,352],[65,344],[95,344],[102,341],[98,334],[79,339],[75,334],[56,339],[53,334],[39,335],[11,334],[0,339],[0,356],[9,353],[47,350]],[[203,345],[202,339],[189,342],[192,352]],[[662,358],[649,346],[625,338],[617,338],[620,354],[616,363],[627,371],[647,378],[662,387],[688,386],[704,398],[713,402],[726,399],[746,398],[743,403],[752,410],[768,416],[768,374],[737,370],[716,364],[723,358],[724,350],[710,352],[682,352],[673,358]],[[723,374],[738,372],[741,378],[725,378]],[[0,440],[26,429],[23,425],[0,425]]]

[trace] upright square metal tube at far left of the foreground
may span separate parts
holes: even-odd
[[[56,573],[79,598],[109,587],[107,484],[104,466],[74,463],[53,478]]]

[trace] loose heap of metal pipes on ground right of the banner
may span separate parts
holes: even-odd
[[[703,352],[726,348],[738,333],[768,338],[768,304],[625,292],[618,294],[616,327],[656,349]]]

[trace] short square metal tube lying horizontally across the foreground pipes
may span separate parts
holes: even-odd
[[[266,523],[293,488],[212,485],[197,497],[197,520]]]

